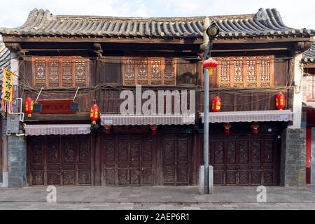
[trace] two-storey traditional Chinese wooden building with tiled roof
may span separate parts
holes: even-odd
[[[220,29],[211,52],[219,66],[210,77],[210,100],[219,96],[222,106],[204,115],[202,60],[210,22]],[[20,96],[39,95],[34,114],[24,120],[28,186],[196,185],[204,116],[216,185],[303,184],[295,58],[309,48],[315,31],[287,27],[276,9],[209,18],[34,9],[24,25],[0,33],[20,59]],[[122,115],[120,92],[136,92],[136,85],[142,92],[195,90],[196,113],[174,114],[183,98],[173,96],[172,115]],[[275,104],[279,92],[286,97],[282,111]],[[135,100],[135,110],[144,103]],[[97,125],[90,123],[93,104],[101,112]]]

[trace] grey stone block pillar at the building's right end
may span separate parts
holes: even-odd
[[[306,184],[306,130],[285,129],[281,144],[281,186],[305,186]]]

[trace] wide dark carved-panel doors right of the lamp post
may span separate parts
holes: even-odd
[[[211,134],[209,161],[214,166],[214,184],[278,185],[278,136],[276,133]]]

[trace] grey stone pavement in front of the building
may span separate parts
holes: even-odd
[[[258,203],[256,187],[215,187],[199,195],[196,186],[57,187],[57,203],[46,187],[0,188],[0,209],[314,209],[315,186],[267,187]]]

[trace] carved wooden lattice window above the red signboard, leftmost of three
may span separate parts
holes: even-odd
[[[87,85],[88,59],[78,57],[33,57],[36,87]]]

